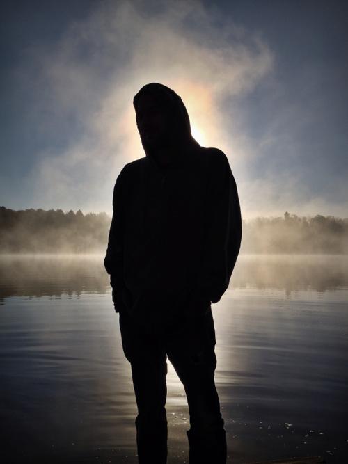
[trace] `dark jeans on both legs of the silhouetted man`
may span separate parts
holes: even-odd
[[[204,306],[194,319],[155,334],[144,332],[126,311],[120,312],[122,346],[131,363],[138,406],[136,444],[141,464],[165,464],[167,459],[167,355],[187,394],[189,464],[226,463],[226,431],[214,383],[214,320],[211,303],[205,301]]]

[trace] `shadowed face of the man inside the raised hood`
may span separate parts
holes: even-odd
[[[136,106],[136,123],[141,139],[152,147],[166,145],[171,122],[162,102],[150,94],[139,97]]]

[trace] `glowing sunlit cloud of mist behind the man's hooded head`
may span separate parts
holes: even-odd
[[[38,154],[36,200],[84,211],[111,211],[120,169],[144,156],[132,107],[141,86],[157,81],[179,93],[198,141],[224,150],[238,170],[252,150],[231,116],[273,66],[257,35],[199,1],[100,3],[56,45],[31,49],[31,58],[40,130],[55,140],[58,128],[70,131],[63,147]]]

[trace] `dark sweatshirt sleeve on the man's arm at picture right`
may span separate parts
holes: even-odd
[[[242,240],[242,218],[237,186],[228,158],[216,149],[213,159],[198,289],[207,294],[212,303],[217,303],[228,288],[237,261]]]

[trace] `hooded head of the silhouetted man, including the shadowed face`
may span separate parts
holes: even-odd
[[[195,143],[187,110],[177,93],[161,83],[148,83],[133,99],[136,125],[146,154],[173,152]]]

